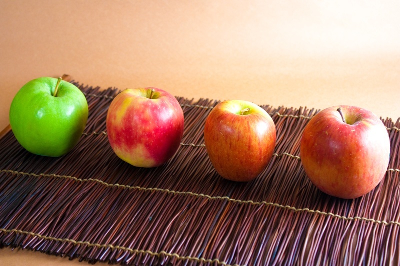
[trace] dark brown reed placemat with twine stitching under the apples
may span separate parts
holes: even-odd
[[[105,116],[116,88],[84,92],[89,118],[61,158],[0,139],[0,247],[126,265],[400,264],[400,120],[383,119],[391,142],[383,181],[341,200],[318,191],[299,160],[317,110],[261,106],[276,125],[274,156],[248,183],[224,180],[203,144],[217,101],[180,102],[185,129],[166,164],[136,168],[112,152]]]

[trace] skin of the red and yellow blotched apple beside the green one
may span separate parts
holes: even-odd
[[[112,100],[106,118],[112,150],[136,167],[156,167],[168,161],[180,146],[183,125],[179,102],[158,88],[121,91]]]

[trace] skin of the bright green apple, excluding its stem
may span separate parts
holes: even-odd
[[[27,151],[50,157],[69,152],[86,126],[88,107],[83,93],[57,78],[40,77],[23,85],[12,99],[9,123]]]

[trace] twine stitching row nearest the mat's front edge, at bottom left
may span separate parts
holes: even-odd
[[[47,237],[47,236],[43,236],[37,233],[33,233],[33,232],[28,232],[28,231],[22,231],[19,229],[3,229],[0,228],[0,231],[4,232],[4,234],[8,234],[11,232],[14,233],[19,233],[19,234],[23,234],[23,235],[30,235],[32,237],[38,237],[41,239],[45,239],[45,240],[52,240],[52,241],[59,241],[59,242],[69,242],[72,243],[74,246],[76,245],[86,245],[87,247],[96,247],[96,248],[109,248],[111,249],[111,251],[113,250],[122,250],[122,251],[128,251],[129,253],[132,254],[148,254],[150,256],[156,256],[156,257],[160,257],[161,255],[166,256],[166,257],[174,257],[178,260],[181,261],[195,261],[195,262],[201,262],[201,263],[210,263],[210,264],[218,264],[218,265],[223,265],[223,266],[237,266],[237,264],[233,264],[233,265],[229,265],[226,264],[225,262],[220,262],[218,259],[205,259],[205,258],[197,258],[197,257],[190,257],[190,256],[180,256],[176,253],[167,253],[165,251],[160,251],[160,252],[152,252],[149,250],[137,250],[137,249],[130,249],[130,248],[126,248],[126,247],[122,247],[122,246],[113,246],[111,244],[97,244],[97,243],[90,243],[88,241],[76,241],[73,239],[67,239],[67,238],[54,238],[54,237]]]

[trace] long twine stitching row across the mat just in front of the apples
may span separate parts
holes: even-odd
[[[391,172],[400,172],[399,169],[392,169],[389,168],[386,171],[391,171]],[[2,169],[0,170],[0,172],[5,172],[5,173],[11,173],[11,174],[21,174],[21,175],[27,175],[27,176],[33,176],[33,177],[58,177],[58,178],[67,178],[67,179],[72,179],[75,180],[77,182],[88,182],[88,181],[92,181],[92,182],[96,182],[99,184],[102,184],[106,187],[118,187],[118,188],[123,188],[123,189],[137,189],[137,190],[141,190],[141,191],[160,191],[160,192],[165,192],[167,194],[173,194],[173,195],[190,195],[190,196],[194,196],[194,197],[201,197],[201,198],[207,198],[210,200],[228,200],[230,202],[234,202],[234,203],[239,203],[239,204],[251,204],[251,205],[265,205],[265,206],[273,206],[273,207],[277,207],[277,208],[281,208],[281,209],[287,209],[287,210],[291,210],[294,212],[306,212],[306,213],[311,213],[311,214],[319,214],[319,215],[324,215],[324,216],[329,216],[329,217],[334,217],[334,218],[338,218],[338,219],[343,219],[345,221],[355,221],[355,220],[360,220],[360,221],[365,221],[365,222],[372,222],[372,223],[376,223],[376,224],[383,224],[385,226],[388,225],[397,225],[400,226],[400,222],[397,221],[379,221],[379,220],[375,220],[372,218],[365,218],[365,217],[359,217],[359,216],[355,216],[355,217],[346,217],[346,216],[340,216],[338,214],[334,214],[331,212],[322,212],[319,210],[310,210],[308,208],[295,208],[289,205],[281,205],[278,203],[273,203],[273,202],[266,202],[266,201],[262,201],[262,202],[253,202],[252,200],[237,200],[237,199],[231,199],[227,196],[209,196],[209,195],[205,195],[205,194],[197,194],[197,193],[193,193],[190,191],[173,191],[173,190],[168,190],[168,189],[160,189],[160,188],[144,188],[144,187],[138,187],[138,186],[128,186],[128,185],[119,185],[119,184],[108,184],[105,183],[101,180],[98,179],[93,179],[93,178],[88,178],[88,179],[81,179],[81,178],[76,178],[76,177],[72,177],[72,176],[65,176],[65,175],[56,175],[56,174],[34,174],[34,173],[25,173],[25,172],[19,172],[19,171],[13,171],[13,170],[5,170]]]

